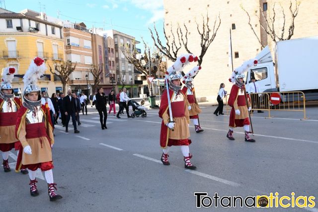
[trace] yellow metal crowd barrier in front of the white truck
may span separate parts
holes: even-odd
[[[268,118],[272,118],[271,111],[302,111],[304,112],[304,119],[306,117],[306,99],[305,94],[302,91],[290,91],[290,92],[277,92],[279,93],[281,100],[277,105],[272,104],[270,101],[271,93],[250,93],[248,94],[251,101],[252,113],[255,110],[268,111]],[[229,115],[228,96],[226,99],[226,111]]]

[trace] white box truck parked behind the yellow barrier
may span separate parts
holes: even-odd
[[[318,100],[318,36],[277,42],[275,63],[266,46],[247,74],[254,76],[259,92],[303,91],[306,100]]]

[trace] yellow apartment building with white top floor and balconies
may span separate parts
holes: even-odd
[[[13,79],[16,93],[18,88],[23,92],[22,78],[35,57],[44,59],[48,68],[38,82],[41,90],[48,89],[49,94],[62,90],[61,80],[49,71],[49,66],[54,69],[64,60],[62,26],[0,8],[0,49],[0,67],[16,69]]]

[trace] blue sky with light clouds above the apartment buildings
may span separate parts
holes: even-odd
[[[28,8],[53,17],[59,10],[60,19],[84,22],[87,28],[115,29],[138,41],[143,37],[151,46],[149,25],[155,22],[163,35],[163,0],[5,0],[5,6],[13,12]],[[139,44],[139,48],[143,49],[143,45]]]

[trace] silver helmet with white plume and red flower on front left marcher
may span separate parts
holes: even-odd
[[[36,83],[38,79],[44,74],[46,69],[47,68],[44,63],[44,60],[42,60],[39,57],[36,57],[34,60],[31,61],[29,69],[25,72],[23,76],[23,82],[24,82],[23,99],[27,104],[31,106],[38,106],[38,103],[41,104],[41,98],[40,98],[41,89]],[[32,92],[39,93],[38,101],[33,102],[25,98],[25,95]]]

